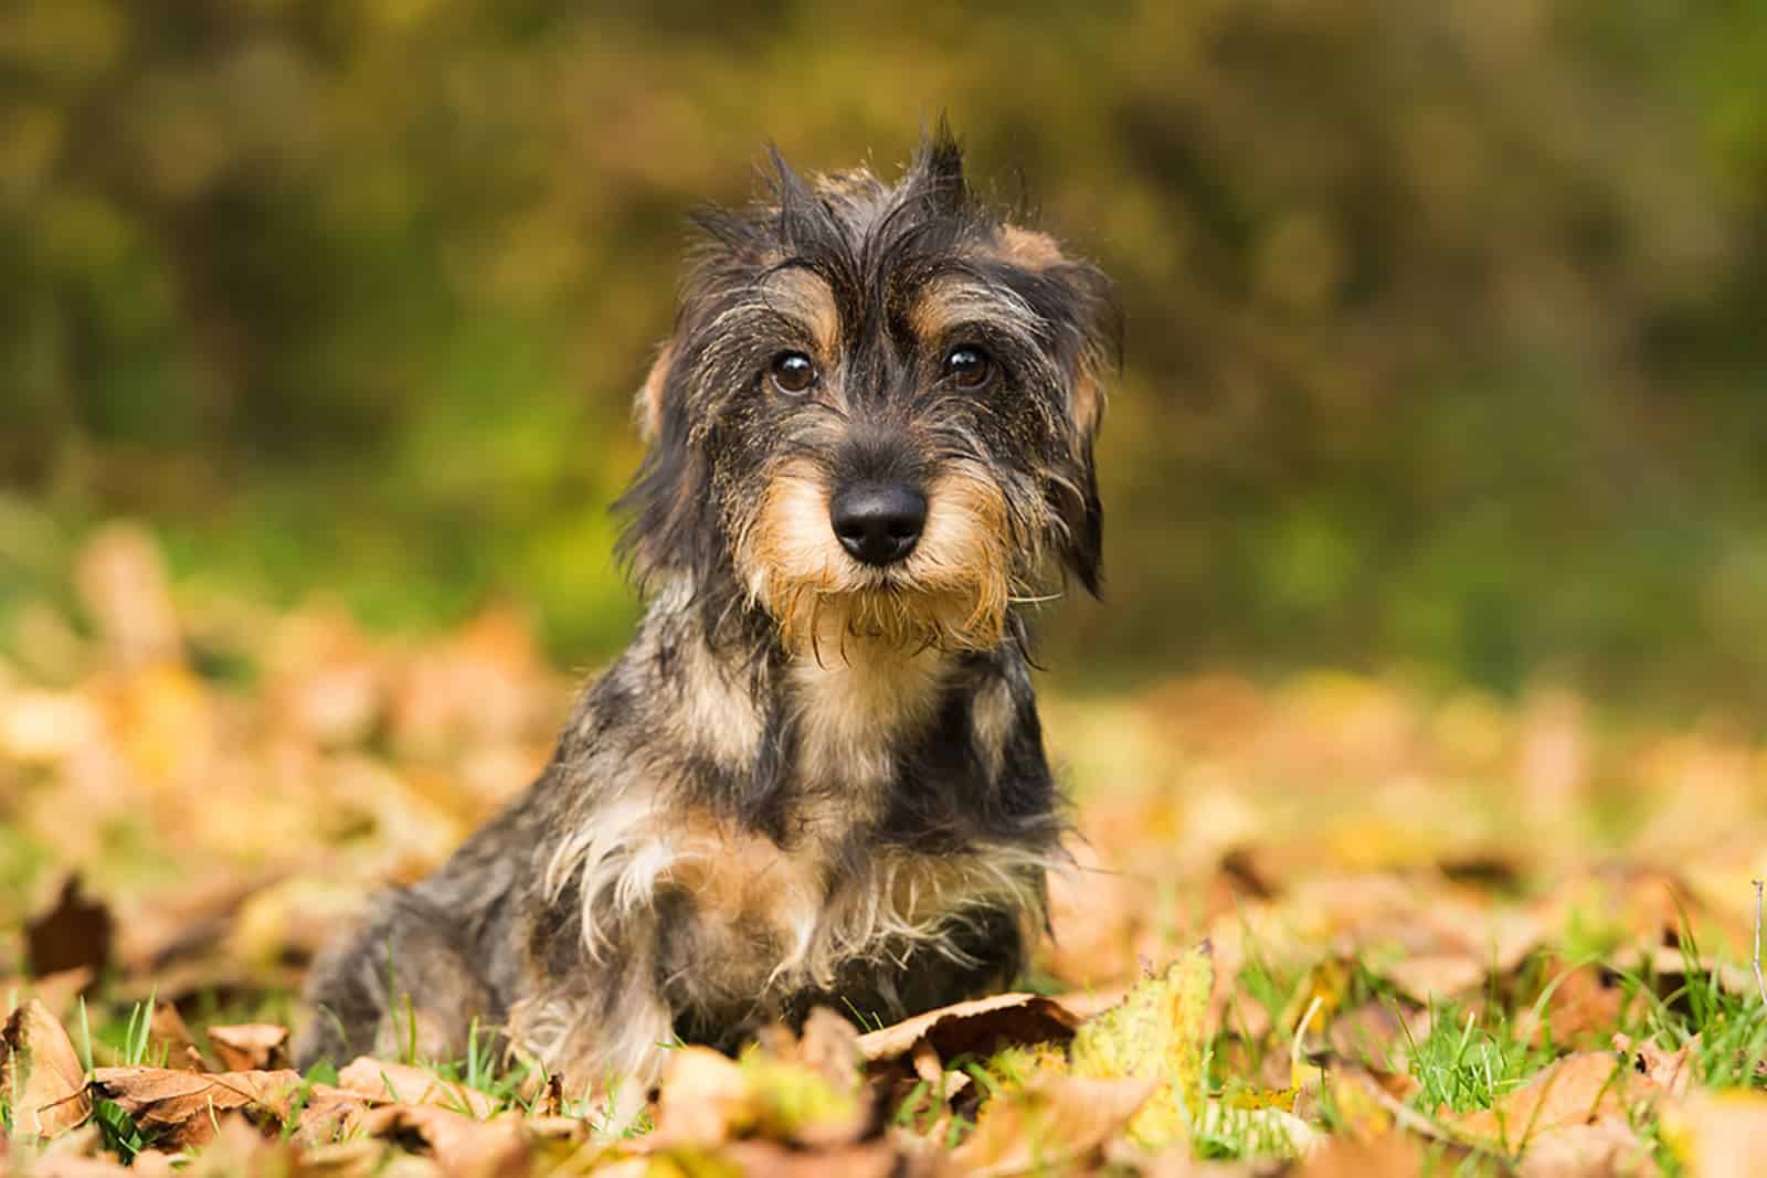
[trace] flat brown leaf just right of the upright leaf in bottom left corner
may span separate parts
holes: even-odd
[[[283,1118],[290,1113],[300,1074],[277,1072],[175,1072],[163,1067],[101,1067],[92,1074],[92,1091],[115,1100],[145,1129],[159,1130],[157,1144],[194,1146],[214,1137],[223,1113],[263,1111]]]

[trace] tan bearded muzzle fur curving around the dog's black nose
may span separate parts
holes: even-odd
[[[891,650],[991,650],[1005,632],[1012,585],[1007,505],[972,472],[928,487],[926,526],[901,562],[875,569],[848,556],[829,526],[829,489],[788,464],[740,533],[749,599],[779,625],[792,653],[850,659],[855,645]]]

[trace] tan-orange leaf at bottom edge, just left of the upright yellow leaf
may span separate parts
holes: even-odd
[[[951,1153],[972,1178],[1046,1173],[1122,1132],[1159,1081],[1046,1077],[982,1106],[975,1132]]]

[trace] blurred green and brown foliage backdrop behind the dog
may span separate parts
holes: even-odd
[[[1767,701],[1763,62],[1758,0],[0,4],[0,622],[124,514],[606,657],[684,214],[949,111],[1127,318],[1066,680]]]

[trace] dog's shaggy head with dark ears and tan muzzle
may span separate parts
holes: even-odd
[[[818,657],[991,648],[1057,562],[1097,592],[1096,268],[990,215],[944,134],[896,185],[779,162],[774,201],[701,224],[640,401],[645,574],[728,583]]]

